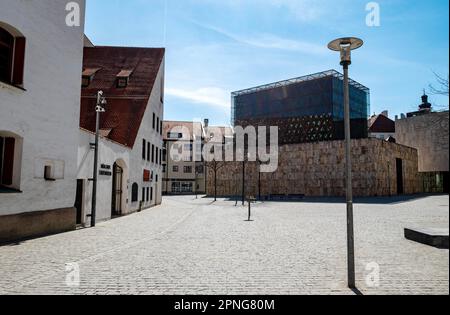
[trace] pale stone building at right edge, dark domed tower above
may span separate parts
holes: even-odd
[[[397,143],[418,150],[424,192],[449,192],[449,112],[433,112],[426,95],[419,111],[395,122]]]

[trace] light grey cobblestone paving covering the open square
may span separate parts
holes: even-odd
[[[345,205],[192,196],[84,229],[0,247],[0,294],[353,294],[346,288]],[[405,227],[448,227],[449,197],[355,205],[363,294],[449,294],[449,252],[407,241]],[[66,263],[81,283],[66,285]],[[367,264],[380,268],[369,287]],[[375,265],[376,266],[376,265]],[[373,267],[369,265],[369,267]]]

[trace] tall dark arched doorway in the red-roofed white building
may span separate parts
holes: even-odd
[[[125,176],[125,163],[123,161],[116,161],[113,166],[113,178],[112,178],[112,198],[111,198],[111,217],[118,217],[126,212],[125,199],[127,192],[126,189],[126,176]]]

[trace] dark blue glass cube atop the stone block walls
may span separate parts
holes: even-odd
[[[232,93],[232,125],[278,126],[280,143],[342,140],[343,75],[335,70]],[[370,90],[350,80],[352,138],[368,137]]]

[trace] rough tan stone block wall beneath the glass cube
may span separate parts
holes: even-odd
[[[261,195],[345,196],[345,142],[327,141],[280,146],[279,166],[261,173]],[[405,194],[420,192],[417,150],[378,139],[352,141],[355,196],[397,194],[396,159],[403,160]],[[219,196],[242,194],[242,162],[225,162],[218,171]],[[259,166],[247,162],[246,195],[258,196]],[[214,195],[214,172],[208,169],[207,194]]]

